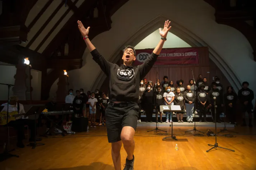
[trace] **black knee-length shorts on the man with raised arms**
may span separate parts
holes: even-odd
[[[106,126],[108,142],[121,140],[121,131],[124,126],[137,127],[139,106],[134,102],[109,103],[106,109]]]

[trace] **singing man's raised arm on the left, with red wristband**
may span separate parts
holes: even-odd
[[[97,64],[101,67],[102,71],[106,75],[109,75],[110,74],[110,68],[113,64],[111,62],[108,62],[101,54],[99,54],[99,52],[97,51],[95,46],[89,40],[88,34],[89,34],[90,27],[85,29],[84,25],[81,21],[77,21],[77,24],[78,24],[78,29],[79,29],[80,33],[82,34],[82,36],[83,36],[85,44],[86,44],[87,48],[89,49],[90,53],[93,56],[93,60],[97,62]]]

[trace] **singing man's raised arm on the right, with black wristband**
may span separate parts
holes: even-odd
[[[161,35],[162,38],[160,39],[158,45],[153,50],[153,53],[146,59],[146,61],[143,64],[141,64],[140,66],[141,77],[145,77],[146,74],[148,74],[150,69],[153,67],[155,61],[157,61],[157,57],[163,48],[164,41],[166,41],[168,31],[171,29],[171,26],[169,26],[170,24],[171,24],[171,21],[167,20],[164,23],[163,30],[159,28],[159,34]]]

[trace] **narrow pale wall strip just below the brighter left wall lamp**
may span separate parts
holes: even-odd
[[[31,69],[31,86],[33,87],[32,91],[32,100],[41,100],[41,80],[42,72],[38,70]]]

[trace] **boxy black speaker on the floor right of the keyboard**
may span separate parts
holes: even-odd
[[[72,131],[74,132],[84,132],[87,131],[88,117],[75,117],[72,122]]]

